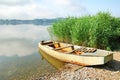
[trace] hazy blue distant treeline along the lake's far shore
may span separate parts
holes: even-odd
[[[0,19],[0,25],[18,25],[18,24],[34,24],[34,25],[51,25],[54,22],[64,18],[54,18],[54,19],[34,19],[34,20],[3,20]]]

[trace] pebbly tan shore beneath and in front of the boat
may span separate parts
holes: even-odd
[[[114,52],[114,60],[102,66],[76,70],[65,67],[32,80],[120,80],[120,52]]]

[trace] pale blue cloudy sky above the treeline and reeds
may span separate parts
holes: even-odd
[[[0,19],[36,19],[94,15],[120,17],[120,0],[0,0]]]

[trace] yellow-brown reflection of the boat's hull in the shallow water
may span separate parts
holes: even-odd
[[[41,49],[39,49],[39,52],[42,56],[42,59],[46,59],[50,64],[52,64],[55,68],[57,69],[61,69],[64,67],[65,63],[62,61],[59,61],[55,58],[53,58],[52,56],[48,55],[47,53],[45,53],[44,51],[42,51]]]

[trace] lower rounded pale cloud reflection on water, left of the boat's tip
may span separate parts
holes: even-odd
[[[36,46],[27,39],[0,40],[0,56],[25,56],[36,52]]]

